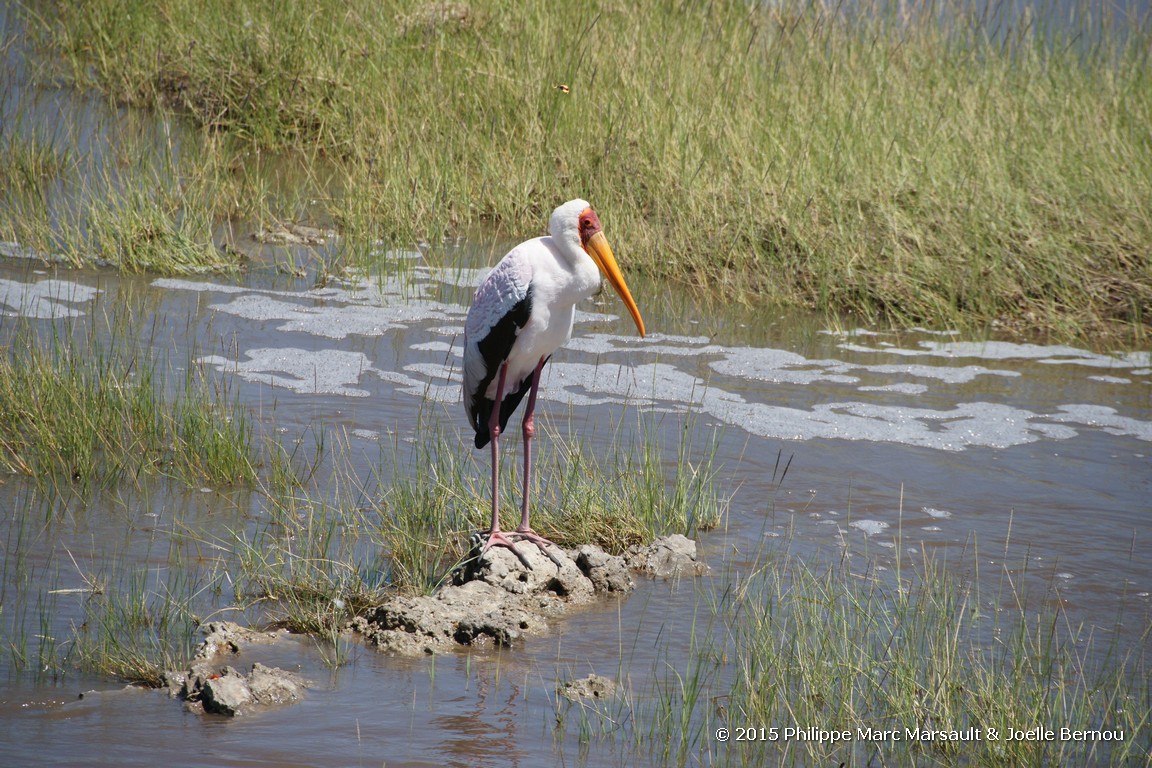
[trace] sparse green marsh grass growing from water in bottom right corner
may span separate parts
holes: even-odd
[[[978,570],[969,545],[960,562]],[[1034,599],[931,560],[877,569],[846,549],[816,565],[765,547],[700,591],[690,653],[659,655],[649,687],[558,698],[558,721],[657,765],[1143,765],[1146,656]]]

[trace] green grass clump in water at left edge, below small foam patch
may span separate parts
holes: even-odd
[[[82,491],[147,474],[252,480],[259,459],[243,411],[195,371],[167,398],[161,374],[130,344],[17,340],[0,356],[0,465]]]

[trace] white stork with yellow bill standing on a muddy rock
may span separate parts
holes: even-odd
[[[600,287],[600,273],[616,289],[636,321],[641,336],[644,320],[624,283],[600,219],[584,200],[569,200],[552,212],[551,236],[521,243],[488,274],[476,290],[464,322],[464,410],[476,429],[476,447],[492,443],[492,526],[482,549],[511,549],[524,564],[513,539],[528,540],[555,560],[552,542],[528,525],[528,489],[532,479],[532,415],[540,371],[556,349],[573,335],[576,303]],[[500,433],[520,401],[524,410],[524,496],[520,526],[500,531]]]

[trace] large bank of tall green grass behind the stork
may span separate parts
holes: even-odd
[[[720,301],[1146,328],[1146,20],[1124,37],[1011,3],[861,5],[849,21],[818,2],[107,0],[29,17],[116,101],[333,164],[319,199],[354,250],[533,233],[583,195],[628,268]]]

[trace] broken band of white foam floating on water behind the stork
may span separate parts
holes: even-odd
[[[478,283],[487,272],[419,267],[417,279],[471,284]],[[458,401],[461,328],[457,324],[467,310],[427,299],[389,299],[389,291],[411,296],[412,280],[409,276],[403,283],[359,279],[347,286],[327,286],[308,291],[245,289],[179,279],[159,279],[153,284],[230,296],[228,301],[213,304],[212,309],[258,322],[272,322],[285,333],[343,340],[349,336],[381,336],[423,325],[427,333],[442,336],[446,341],[422,342],[409,349],[433,359],[403,365],[400,371],[385,371],[366,359],[346,358],[340,362],[328,358],[326,362],[336,370],[323,389],[331,394],[361,397],[365,391],[358,377],[371,373],[393,385],[397,391],[415,397],[446,403]],[[577,322],[582,324],[612,319],[615,315],[585,311],[578,311],[576,315]],[[863,339],[880,334],[857,329],[840,335]],[[953,334],[948,332],[947,335]],[[447,341],[449,337],[450,342]],[[577,334],[545,368],[541,395],[571,406],[639,402],[653,411],[695,412],[718,424],[779,440],[859,440],[948,451],[1067,440],[1085,428],[1152,440],[1152,421],[1123,416],[1102,405],[1068,404],[1061,405],[1054,413],[1044,413],[985,398],[964,401],[962,391],[958,396],[947,395],[945,402],[960,401],[948,408],[929,408],[920,400],[920,396],[931,394],[932,382],[960,387],[978,379],[1018,380],[1025,375],[1007,366],[953,365],[952,359],[1124,367],[1129,368],[1130,375],[1138,375],[1139,371],[1152,371],[1146,352],[1109,356],[1067,345],[949,340],[922,341],[915,349],[887,342],[880,344],[884,345],[865,347],[846,342],[839,348],[851,353],[897,358],[947,358],[949,363],[813,359],[780,349],[723,347],[702,335],[653,333],[642,340],[632,335],[585,332]],[[252,350],[249,355],[259,358],[263,352],[266,350]],[[643,357],[637,358],[638,353]],[[582,355],[594,357],[596,363],[581,360]],[[647,362],[652,359],[660,362]],[[309,386],[304,372],[262,371],[258,368],[260,360],[263,358],[249,359],[236,368],[237,373],[249,380],[264,380],[276,386]],[[715,375],[705,379],[684,370],[690,366],[692,371],[699,371],[702,365]],[[355,377],[350,372],[353,367]],[[286,377],[278,377],[276,373],[295,375],[296,383],[286,381]],[[287,378],[291,380],[290,375]],[[1112,382],[1106,377],[1085,377],[1082,381],[1090,378]],[[791,393],[776,400],[771,386],[763,385],[831,387],[838,394],[816,404],[789,405],[785,403],[796,402]],[[887,397],[886,402],[861,402],[852,398],[852,393],[876,393]],[[899,401],[900,396],[907,402],[892,402]]]

